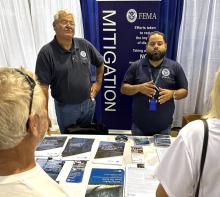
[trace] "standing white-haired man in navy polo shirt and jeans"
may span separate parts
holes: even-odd
[[[74,37],[75,19],[71,12],[59,10],[54,16],[53,28],[56,35],[41,48],[36,74],[47,100],[51,88],[57,122],[64,133],[72,124],[92,122],[95,97],[102,85],[104,59],[89,41]],[[91,65],[96,67],[94,83]]]

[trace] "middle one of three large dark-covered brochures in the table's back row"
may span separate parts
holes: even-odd
[[[89,160],[94,139],[70,138],[62,152],[64,160]]]

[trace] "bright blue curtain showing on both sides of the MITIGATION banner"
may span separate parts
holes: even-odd
[[[83,17],[84,35],[98,50],[99,48],[99,18],[98,2],[96,0],[80,0]],[[140,2],[141,3],[141,2]],[[184,0],[162,0],[160,10],[159,31],[165,33],[168,42],[167,57],[176,59],[179,29],[182,19]],[[94,76],[95,69],[92,69]],[[102,122],[101,96],[96,98],[95,121]]]

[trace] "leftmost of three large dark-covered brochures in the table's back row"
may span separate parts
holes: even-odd
[[[66,142],[67,136],[47,136],[37,146],[36,157],[56,157],[59,156]]]

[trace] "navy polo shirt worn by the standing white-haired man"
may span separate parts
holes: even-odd
[[[70,50],[56,38],[43,46],[36,62],[36,74],[42,85],[50,85],[51,95],[65,104],[78,104],[90,97],[91,64],[99,67],[104,60],[85,39],[73,38]]]

